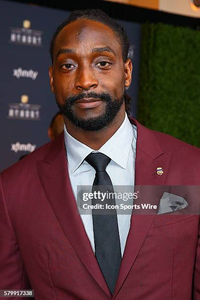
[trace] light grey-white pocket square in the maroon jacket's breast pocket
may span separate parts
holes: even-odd
[[[158,215],[183,209],[188,206],[188,202],[180,196],[164,192],[160,199]]]

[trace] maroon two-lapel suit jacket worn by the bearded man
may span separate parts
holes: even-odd
[[[129,120],[135,185],[200,185],[200,149]],[[62,133],[1,173],[0,289],[32,288],[36,300],[200,299],[199,215],[135,211],[111,296],[77,212]]]

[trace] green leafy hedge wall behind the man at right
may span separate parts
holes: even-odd
[[[142,25],[137,119],[200,147],[200,31]]]

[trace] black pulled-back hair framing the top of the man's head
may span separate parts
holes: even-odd
[[[114,19],[110,18],[106,13],[104,13],[100,9],[84,9],[84,10],[73,11],[69,16],[69,18],[65,20],[63,23],[61,23],[55,30],[50,41],[50,56],[51,56],[52,64],[53,64],[53,50],[55,47],[56,37],[66,25],[79,19],[88,19],[92,21],[97,21],[109,26],[115,32],[120,42],[120,45],[122,47],[123,61],[124,62],[126,61],[130,44],[128,41],[128,36],[125,32],[125,28],[121,24],[117,23]]]

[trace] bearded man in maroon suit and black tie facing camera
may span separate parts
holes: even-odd
[[[65,131],[1,173],[1,290],[33,289],[36,300],[200,299],[200,150],[127,117],[128,47],[100,11],[74,12],[57,28],[49,75]],[[132,184],[142,195],[130,217],[117,207],[83,216],[75,188],[88,183],[93,192]]]

